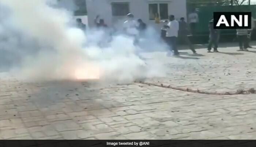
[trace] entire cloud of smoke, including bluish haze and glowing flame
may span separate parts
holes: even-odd
[[[1,0],[0,7],[0,68],[26,80],[100,76],[104,81],[131,82],[165,74],[161,63],[146,64],[137,55],[143,49],[164,48],[152,29],[139,48],[132,38],[110,38],[106,30],[85,35],[74,27],[73,8],[60,8],[54,0]]]

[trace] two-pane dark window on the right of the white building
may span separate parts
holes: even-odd
[[[168,19],[168,4],[148,4],[149,19],[154,20],[156,15],[159,15],[160,19]]]

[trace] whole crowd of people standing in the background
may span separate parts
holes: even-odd
[[[156,15],[157,16],[157,15]],[[97,28],[108,28],[108,25],[105,24],[104,19],[99,19],[99,15],[95,18],[95,26]],[[167,55],[178,56],[179,52],[177,49],[178,41],[185,43],[189,46],[189,49],[196,54],[196,50],[194,45],[189,40],[189,35],[195,33],[195,26],[198,22],[198,16],[196,13],[191,13],[188,15],[189,24],[185,22],[185,18],[180,18],[180,21],[175,19],[174,15],[169,16],[169,20],[165,20],[167,23],[163,25],[161,29],[161,37],[169,46],[170,52]],[[159,23],[158,17],[156,17],[156,23]],[[82,23],[81,19],[77,19],[78,27],[82,30],[86,29],[86,25]],[[213,52],[218,52],[218,42],[220,38],[220,31],[214,29],[213,19],[208,23],[209,28],[209,42],[207,50],[211,52],[213,46]],[[252,22],[252,28],[254,27],[254,23]],[[123,31],[126,35],[134,38],[134,44],[137,45],[139,43],[139,38],[143,35],[146,30],[147,25],[142,21],[142,19],[135,20],[132,14],[127,14],[127,20],[123,23]],[[237,41],[239,43],[240,51],[248,51],[249,41],[251,37],[252,29],[237,29]]]

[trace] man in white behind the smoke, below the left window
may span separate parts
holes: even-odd
[[[124,32],[128,36],[134,38],[134,44],[138,44],[139,42],[139,31],[137,30],[137,27],[138,23],[136,22],[136,20],[134,20],[134,16],[131,13],[127,14],[127,20],[124,22]]]

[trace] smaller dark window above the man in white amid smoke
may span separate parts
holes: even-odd
[[[112,16],[125,16],[129,10],[129,3],[111,3]]]

